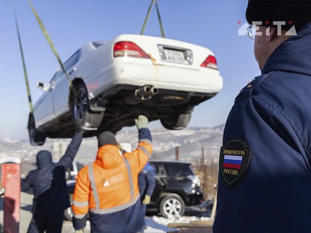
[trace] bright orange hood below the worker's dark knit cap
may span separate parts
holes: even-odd
[[[95,163],[105,169],[120,166],[122,157],[119,148],[115,145],[105,145],[98,149]]]

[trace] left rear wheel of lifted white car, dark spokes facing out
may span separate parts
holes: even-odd
[[[73,97],[72,113],[74,122],[80,119],[86,130],[97,130],[101,125],[104,112],[93,112],[89,107],[88,94],[84,83],[75,86],[79,98]]]

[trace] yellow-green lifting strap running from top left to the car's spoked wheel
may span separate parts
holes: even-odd
[[[66,77],[67,77],[67,79],[68,79],[69,86],[70,86],[70,88],[71,88],[71,90],[72,90],[73,95],[74,95],[76,98],[79,98],[78,92],[76,91],[76,89],[75,89],[74,86],[72,85],[71,79],[69,78],[69,75],[67,74],[67,71],[66,71],[66,69],[65,69],[65,67],[64,67],[64,65],[63,65],[63,63],[62,63],[62,60],[60,59],[60,57],[59,57],[59,55],[58,55],[58,52],[57,52],[57,50],[55,49],[55,47],[54,47],[54,45],[53,45],[53,42],[52,42],[52,40],[51,40],[51,38],[50,38],[50,35],[49,35],[48,31],[45,29],[45,27],[44,27],[44,25],[43,25],[41,19],[39,18],[38,14],[36,13],[35,8],[34,8],[34,6],[33,6],[33,4],[31,3],[30,0],[28,0],[28,3],[29,3],[29,5],[30,5],[31,9],[33,10],[33,13],[34,13],[34,15],[35,15],[36,20],[38,21],[38,24],[39,24],[39,26],[40,26],[40,28],[41,28],[41,30],[42,30],[42,33],[44,34],[45,38],[47,39],[47,41],[48,41],[48,43],[49,43],[49,45],[50,45],[50,47],[51,47],[51,49],[52,49],[52,51],[53,51],[53,53],[54,53],[54,55],[55,55],[55,57],[56,57],[56,59],[57,59],[59,65],[61,66],[61,68],[62,68],[64,74],[66,75]]]

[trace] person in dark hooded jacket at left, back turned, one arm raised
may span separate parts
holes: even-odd
[[[76,123],[74,134],[65,155],[58,163],[52,162],[52,154],[41,150],[36,155],[37,169],[30,171],[21,179],[21,191],[33,188],[33,218],[28,233],[60,233],[63,225],[64,210],[70,206],[65,172],[80,147],[84,129],[81,122]]]

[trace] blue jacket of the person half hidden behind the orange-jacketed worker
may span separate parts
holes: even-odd
[[[155,168],[147,163],[138,174],[138,187],[140,198],[143,200],[145,195],[152,196],[155,189]]]

